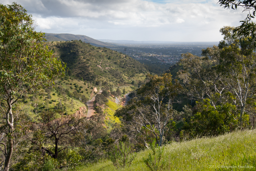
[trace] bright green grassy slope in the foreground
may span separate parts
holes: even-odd
[[[123,170],[149,170],[143,163],[151,150],[139,152],[133,164]],[[256,170],[256,130],[237,131],[215,138],[200,138],[187,142],[173,143],[165,146],[163,160],[166,166],[161,170],[232,170],[223,166],[249,165]],[[220,167],[218,169],[218,166]],[[116,170],[109,160],[96,164],[77,167],[77,171],[109,171]],[[120,169],[122,170],[122,169]]]

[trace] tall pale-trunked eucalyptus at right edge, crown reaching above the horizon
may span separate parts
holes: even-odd
[[[220,29],[224,40],[219,46],[202,50],[202,57],[183,54],[178,78],[186,94],[196,100],[210,99],[211,105],[233,103],[242,125],[248,100],[255,96],[256,53],[253,42],[241,39],[233,27]]]

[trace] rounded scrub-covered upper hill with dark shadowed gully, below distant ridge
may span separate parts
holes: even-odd
[[[79,80],[131,85],[134,77],[148,73],[145,65],[109,48],[82,41],[48,42],[54,55],[67,63],[68,75]],[[101,82],[101,83],[99,83]]]

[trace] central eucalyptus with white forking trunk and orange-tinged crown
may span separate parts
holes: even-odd
[[[165,127],[172,117],[172,105],[181,86],[177,82],[172,82],[172,75],[169,73],[162,76],[149,75],[148,79],[149,82],[138,90],[141,100],[136,102],[137,107],[130,116],[130,123],[139,133],[143,129],[152,132],[157,144],[161,146]],[[146,142],[145,146],[147,146]]]

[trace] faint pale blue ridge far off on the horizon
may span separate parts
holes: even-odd
[[[103,41],[106,43],[117,43],[117,44],[170,44],[179,43],[177,41],[127,41],[127,40],[107,40],[99,39],[98,41]]]

